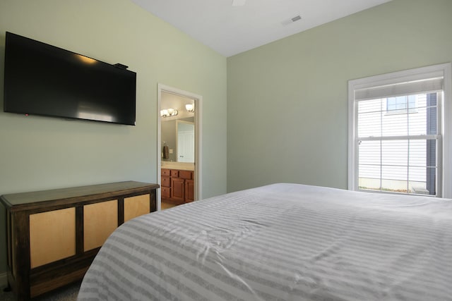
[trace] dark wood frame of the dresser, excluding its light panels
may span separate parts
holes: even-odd
[[[83,247],[83,207],[117,200],[118,226],[124,223],[124,198],[149,195],[150,211],[157,209],[157,184],[133,181],[76,188],[2,195],[6,209],[8,285],[18,300],[29,300],[83,278],[100,247]],[[30,214],[75,208],[76,254],[35,268],[30,267]]]

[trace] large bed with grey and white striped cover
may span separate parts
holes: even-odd
[[[279,183],[146,214],[78,300],[452,300],[452,200]]]

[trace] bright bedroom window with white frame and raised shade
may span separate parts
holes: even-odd
[[[350,80],[349,189],[452,196],[450,85],[450,63]]]

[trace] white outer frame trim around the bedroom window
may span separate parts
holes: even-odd
[[[452,198],[452,76],[451,63],[403,70],[394,73],[359,78],[348,82],[348,189],[358,188],[358,141],[357,141],[357,102],[355,91],[369,87],[393,85],[400,82],[443,77],[443,95],[441,108],[441,175],[437,197]]]

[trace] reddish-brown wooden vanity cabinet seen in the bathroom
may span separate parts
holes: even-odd
[[[162,168],[162,200],[172,204],[194,201],[194,171]]]

